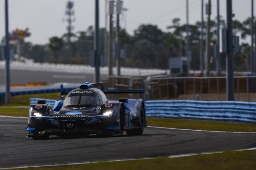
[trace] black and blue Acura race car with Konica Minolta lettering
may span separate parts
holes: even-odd
[[[142,93],[143,99],[119,98],[110,102],[105,94]],[[143,89],[104,90],[103,83],[84,83],[79,88],[64,91],[60,85],[62,100],[54,107],[38,100],[29,107],[27,137],[48,139],[57,136],[141,135],[146,121],[145,83]],[[63,100],[63,95],[67,95]]]

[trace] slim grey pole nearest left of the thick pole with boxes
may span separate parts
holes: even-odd
[[[221,55],[219,53],[219,0],[217,0],[217,50],[216,50],[216,67],[218,75],[221,74]]]

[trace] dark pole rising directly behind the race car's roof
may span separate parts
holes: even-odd
[[[95,83],[100,82],[100,55],[99,55],[99,0],[95,0],[95,31],[94,31],[94,61]]]

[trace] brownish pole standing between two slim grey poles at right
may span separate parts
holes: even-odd
[[[210,76],[210,21],[211,21],[211,0],[208,0],[207,5],[207,31],[206,31],[206,62],[205,62],[205,77]]]

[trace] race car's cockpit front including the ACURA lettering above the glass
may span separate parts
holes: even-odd
[[[97,106],[98,94],[93,89],[74,89],[64,100],[63,107]]]

